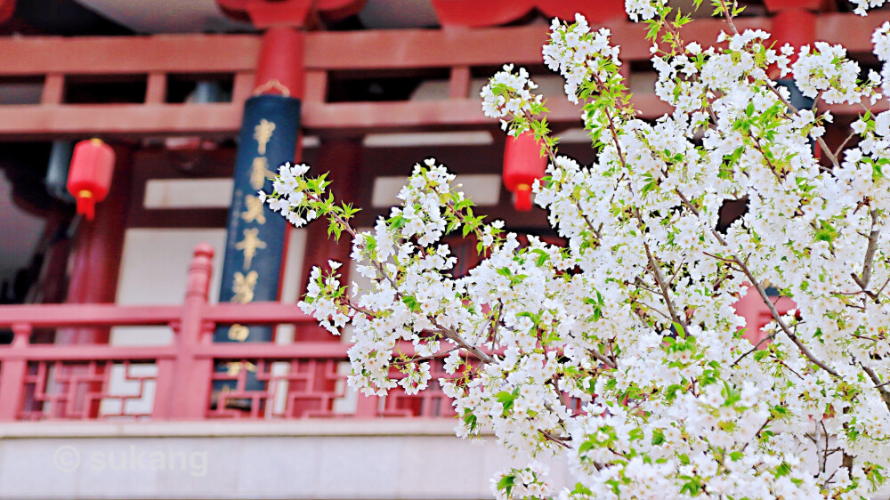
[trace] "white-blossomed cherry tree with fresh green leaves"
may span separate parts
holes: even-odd
[[[263,195],[296,226],[328,218],[352,237],[370,285],[346,286],[331,262],[300,303],[335,335],[351,325],[350,385],[423,391],[429,360],[444,358],[457,434],[491,432],[528,458],[492,480],[498,497],[862,498],[884,481],[890,112],[867,107],[890,66],[863,80],[842,46],[778,46],[739,31],[732,0],[711,3],[725,29],[703,47],[663,0],[627,0],[674,109],[652,122],[630,103],[609,30],[554,20],[544,60],[581,106],[593,165],[559,154],[527,71],[507,65],[483,89],[485,114],[549,157],[535,202],[566,246],[521,245],[432,160],[364,232],[306,165],[283,165]],[[864,15],[883,0],[854,3]],[[890,24],[873,41],[890,60]],[[789,87],[812,108],[793,106]],[[833,103],[862,105],[837,150],[822,140]],[[742,199],[747,213],[717,230],[724,203]],[[460,278],[441,242],[451,233],[483,257]],[[768,286],[797,310],[780,314]],[[745,294],[773,315],[757,345],[732,305]],[[568,460],[573,489],[548,484],[537,460],[552,456]]]

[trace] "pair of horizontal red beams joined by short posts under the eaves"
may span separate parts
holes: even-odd
[[[867,18],[849,13],[820,15],[818,39],[843,42],[852,53],[871,51],[871,31],[890,20],[890,12]],[[769,29],[769,18],[743,18],[738,26]],[[647,60],[649,44],[643,28],[627,21],[607,23],[612,42],[624,60]],[[697,20],[684,28],[684,39],[710,44],[724,30],[720,20]],[[509,61],[541,65],[546,27],[463,30],[399,29],[318,32],[306,35],[304,64],[307,85],[303,128],[308,133],[399,132],[495,127],[482,116],[474,97],[466,97],[467,74]],[[253,85],[260,39],[254,35],[169,35],[127,37],[25,37],[0,40],[0,77],[45,78],[40,105],[0,106],[0,141],[77,138],[101,133],[113,137],[199,135],[233,137],[240,125],[243,101]],[[410,74],[445,68],[452,72],[450,95],[441,101],[325,101],[328,71]],[[170,74],[235,74],[231,103],[165,104],[163,78]],[[145,104],[69,105],[62,102],[69,75],[150,75]],[[658,117],[669,108],[653,93],[637,93],[635,107],[643,117]],[[549,119],[577,124],[579,109],[560,96],[551,96]],[[886,105],[883,105],[886,106]],[[851,107],[829,107],[838,115],[855,114]],[[879,108],[875,110],[882,110]]]

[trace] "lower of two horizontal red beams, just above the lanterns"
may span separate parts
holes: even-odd
[[[654,93],[636,93],[632,98],[643,118],[670,111]],[[71,104],[56,106],[0,106],[0,141],[76,139],[86,135],[141,138],[147,136],[198,135],[207,138],[233,137],[241,123],[243,103],[224,104]],[[580,108],[556,96],[548,102],[549,122],[580,125]],[[305,133],[322,136],[494,128],[496,120],[485,117],[480,101],[473,98],[441,101],[393,102],[306,102]],[[849,105],[826,107],[836,116],[861,112]],[[886,110],[886,102],[872,107]]]

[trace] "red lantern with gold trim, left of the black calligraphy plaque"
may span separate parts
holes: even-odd
[[[93,220],[95,205],[109,194],[114,149],[99,139],[77,142],[71,155],[68,190],[77,198],[77,214]]]

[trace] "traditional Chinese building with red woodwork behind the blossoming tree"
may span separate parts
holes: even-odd
[[[752,0],[739,22],[877,68],[890,12],[850,10]],[[623,0],[0,0],[0,497],[488,496],[508,460],[453,437],[441,392],[345,390],[347,344],[294,304],[349,242],[256,191],[303,161],[369,227],[436,157],[485,214],[554,238],[514,208],[477,96],[501,64],[530,69],[562,153],[590,162],[541,60],[574,12],[611,29],[643,117],[669,111]],[[700,17],[684,37],[710,43],[723,25]],[[858,110],[830,109],[837,144]],[[92,138],[114,173],[88,221],[65,184]],[[474,247],[455,248],[465,270]]]

